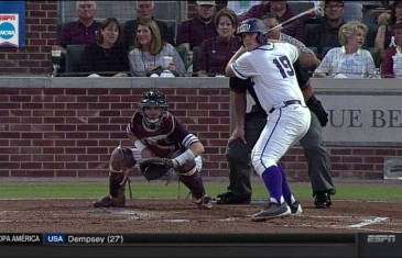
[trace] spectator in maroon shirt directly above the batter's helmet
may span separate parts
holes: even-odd
[[[261,4],[253,5],[242,20],[249,18],[262,19],[265,13],[276,13],[281,22],[285,22],[295,15],[295,12],[289,7],[287,1],[262,1]],[[300,42],[305,42],[304,27],[301,21],[296,21],[292,26],[283,29],[283,33],[293,36]]]

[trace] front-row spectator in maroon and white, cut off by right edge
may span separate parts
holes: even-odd
[[[390,47],[381,63],[381,75],[385,78],[402,78],[402,21],[393,25],[396,47]]]

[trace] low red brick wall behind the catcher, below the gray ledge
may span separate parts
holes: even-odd
[[[131,146],[126,126],[145,89],[0,88],[0,177],[104,177]],[[226,176],[227,89],[163,89],[205,145],[205,176]]]

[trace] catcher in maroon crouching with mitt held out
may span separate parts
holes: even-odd
[[[143,93],[139,110],[132,115],[127,133],[135,147],[113,149],[110,157],[110,195],[93,203],[95,207],[122,207],[128,171],[138,162],[145,179],[171,178],[172,170],[192,192],[194,203],[210,209],[211,199],[205,194],[199,175],[204,146],[183,123],[167,112],[167,100],[162,91]]]

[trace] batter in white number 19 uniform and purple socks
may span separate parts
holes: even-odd
[[[259,102],[269,114],[251,156],[270,201],[268,207],[253,214],[251,220],[289,216],[291,210],[286,202],[292,204],[295,199],[278,161],[305,135],[311,123],[293,67],[298,49],[289,43],[267,43],[267,27],[259,19],[241,22],[239,35],[243,46],[229,60],[226,74],[241,79],[251,77]]]

